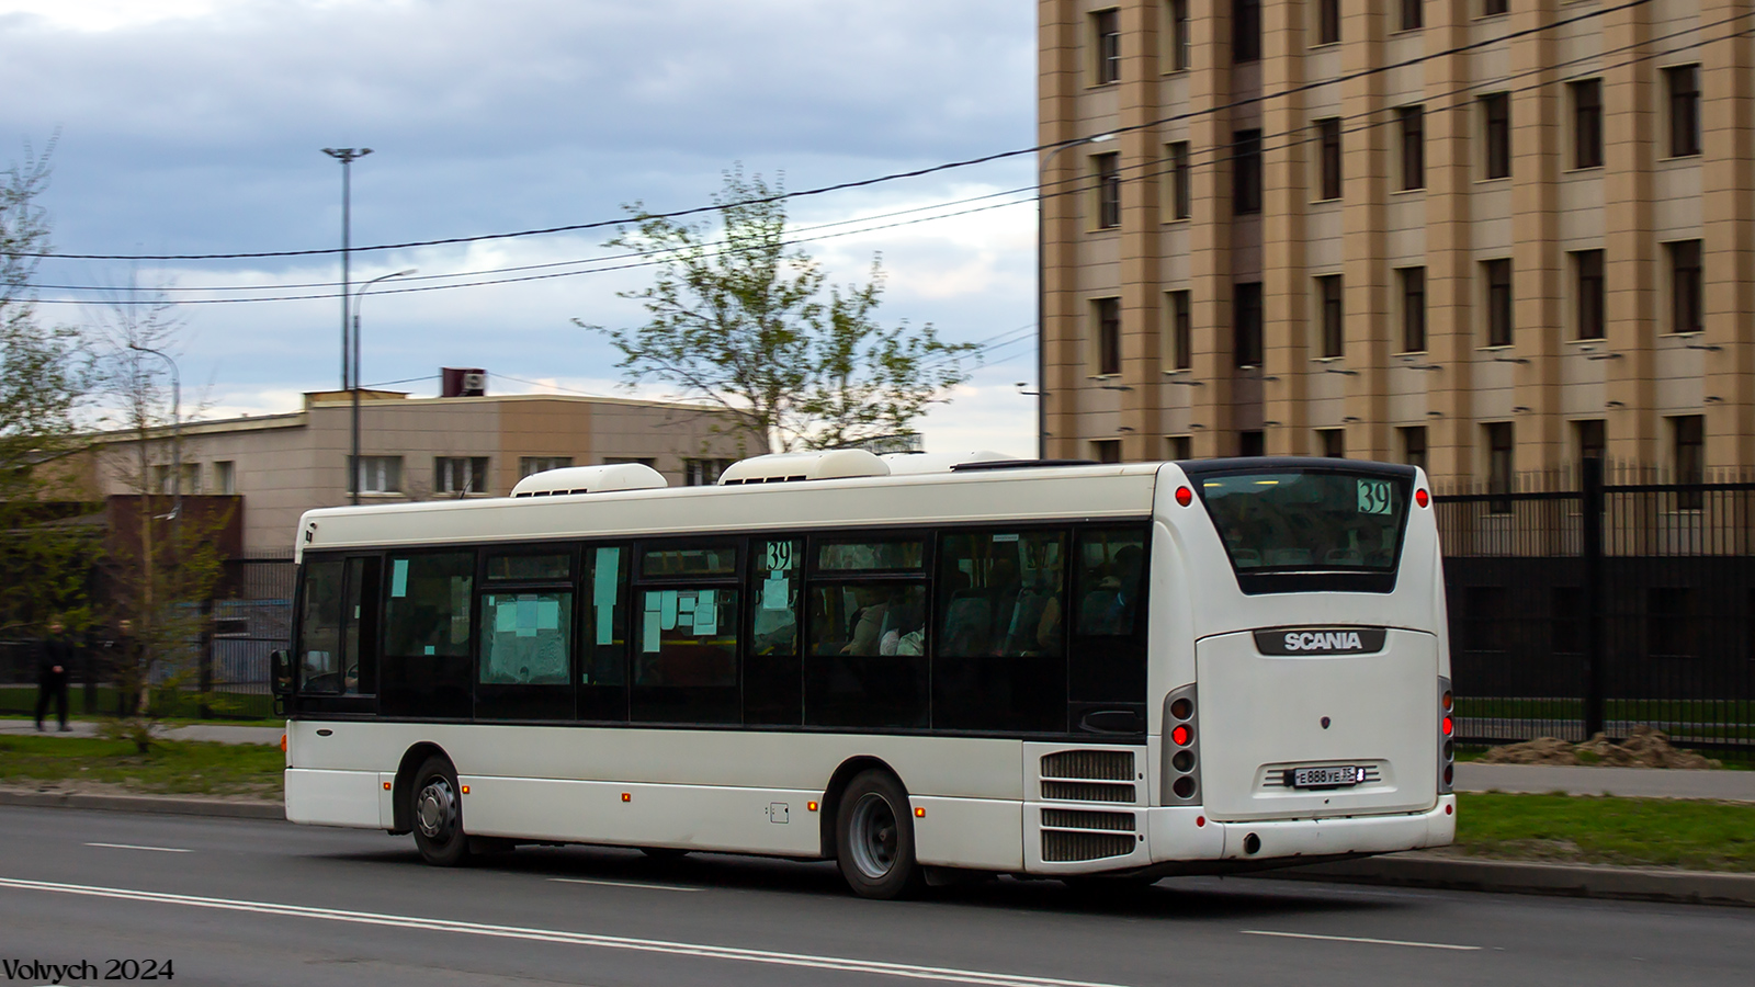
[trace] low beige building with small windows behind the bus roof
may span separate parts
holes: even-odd
[[[362,393],[362,504],[504,497],[532,472],[605,462],[644,462],[672,485],[713,483],[746,455],[721,413],[691,404]],[[290,553],[304,511],[351,502],[351,451],[349,393],[307,393],[288,414],[184,423],[181,492],[242,495],[244,553]],[[154,429],[142,478],[139,441],[109,432],[90,476],[100,495],[170,494],[176,458],[172,430]]]

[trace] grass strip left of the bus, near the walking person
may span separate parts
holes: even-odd
[[[119,785],[151,796],[253,796],[279,799],[286,755],[277,745],[0,736],[0,783]]]

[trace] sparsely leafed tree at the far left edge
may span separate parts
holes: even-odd
[[[32,279],[49,251],[54,140],[0,170],[0,629],[42,627],[61,615],[90,618],[86,587],[98,530],[81,523],[79,474],[68,457],[84,448],[74,411],[86,374],[79,332],[37,318]]]

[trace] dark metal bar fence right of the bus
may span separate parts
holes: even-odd
[[[1434,499],[1458,739],[1755,750],[1755,483],[1662,479],[1585,460]]]

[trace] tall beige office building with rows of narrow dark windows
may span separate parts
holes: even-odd
[[[1750,28],[1041,0],[1048,453],[1755,465]]]

